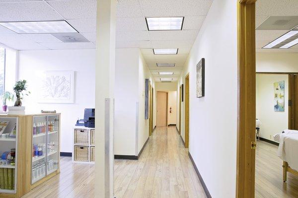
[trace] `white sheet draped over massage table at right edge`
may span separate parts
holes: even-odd
[[[298,132],[281,135],[284,135],[284,143],[280,142],[278,156],[288,162],[292,169],[298,170]]]

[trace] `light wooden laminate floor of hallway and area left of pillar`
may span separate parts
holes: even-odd
[[[117,198],[206,198],[175,127],[157,128],[139,160],[115,160]],[[23,198],[94,198],[94,165],[61,158],[61,174]]]

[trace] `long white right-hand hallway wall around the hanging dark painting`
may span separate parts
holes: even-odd
[[[182,83],[185,89],[184,78],[189,73],[189,152],[213,198],[233,198],[236,192],[236,10],[235,0],[213,1],[177,85],[177,90]],[[206,65],[205,97],[197,98],[196,65],[201,58]],[[182,119],[185,139],[184,125]]]

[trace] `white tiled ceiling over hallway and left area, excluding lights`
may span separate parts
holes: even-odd
[[[116,48],[140,48],[159,81],[158,71],[177,80],[212,0],[118,0]],[[184,16],[182,30],[148,31],[145,16]],[[67,20],[90,43],[63,43],[51,34],[18,35],[0,26],[0,43],[16,50],[94,49],[96,0],[0,0],[0,21]],[[152,48],[179,48],[178,55],[153,55]],[[156,63],[176,63],[157,67]]]

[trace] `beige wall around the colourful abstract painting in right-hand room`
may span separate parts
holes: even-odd
[[[256,118],[262,122],[260,136],[274,141],[273,135],[288,129],[289,81],[287,74],[256,75]],[[274,111],[273,83],[285,81],[285,112]]]

